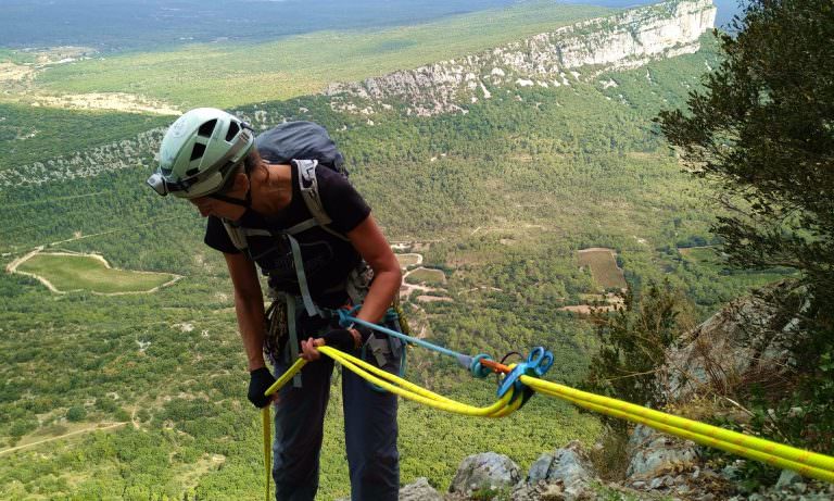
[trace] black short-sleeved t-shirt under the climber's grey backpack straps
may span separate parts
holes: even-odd
[[[354,229],[370,214],[370,208],[362,196],[342,175],[324,166],[316,167],[318,192],[325,212],[333,221],[329,227],[342,235]],[[313,217],[301,195],[299,172],[292,166],[292,200],[274,216],[264,216],[248,210],[238,224],[245,228],[265,229],[271,236],[248,236],[250,258],[257,263],[264,275],[269,276],[269,286],[276,290],[300,295],[298,276],[289,240],[282,231]],[[350,241],[314,226],[293,235],[301,247],[304,273],[311,296],[321,306],[336,308],[344,304],[343,284],[350,272],[359,263],[361,256]],[[208,217],[205,243],[220,252],[240,252],[231,242],[223,222]]]

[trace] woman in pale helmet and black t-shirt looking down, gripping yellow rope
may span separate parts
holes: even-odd
[[[402,350],[393,338],[380,339],[364,328],[341,328],[325,312],[362,301],[356,317],[378,323],[400,289],[402,274],[370,209],[346,178],[314,162],[270,163],[276,158],[271,137],[273,131],[262,134],[256,146],[245,122],[222,110],[191,110],[165,134],[160,168],[148,184],[160,195],[188,199],[207,217],[205,243],[223,252],[235,288],[249,361],[250,401],[258,408],[269,403],[264,391],[275,378],[264,351],[276,374],[299,355],[317,361],[304,366],[301,381],[285,386],[273,399],[276,499],[312,500],[318,488],[333,368],[332,360],[321,358],[316,348],[328,345],[356,355],[374,352],[377,356],[370,362],[391,372],[399,371]],[[329,224],[317,221],[305,183],[317,186],[314,198],[330,217]],[[364,262],[374,275],[364,284],[369,288],[363,301],[355,295],[352,299],[350,292],[362,289],[356,280],[363,276]],[[270,291],[278,298],[268,315],[255,265],[268,276]],[[362,350],[369,343],[372,350]],[[395,397],[375,391],[348,371],[342,394],[351,499],[396,500]]]

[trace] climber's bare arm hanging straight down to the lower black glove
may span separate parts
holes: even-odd
[[[249,371],[265,367],[264,362],[264,297],[257,279],[255,263],[243,254],[223,254],[235,286],[235,312],[247,352]]]

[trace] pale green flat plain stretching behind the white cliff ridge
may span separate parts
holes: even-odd
[[[35,85],[50,95],[127,92],[179,107],[228,108],[314,93],[331,82],[457,58],[611,12],[531,2],[383,30],[201,43],[63,64],[39,73]]]

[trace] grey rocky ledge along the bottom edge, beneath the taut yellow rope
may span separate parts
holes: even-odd
[[[707,466],[695,443],[637,426],[628,446],[626,479],[606,481],[595,472],[579,442],[542,454],[527,474],[495,452],[466,458],[441,493],[426,478],[403,487],[401,501],[823,501],[834,499],[834,485],[810,481],[784,471],[776,485],[756,493],[738,493],[734,468]]]

